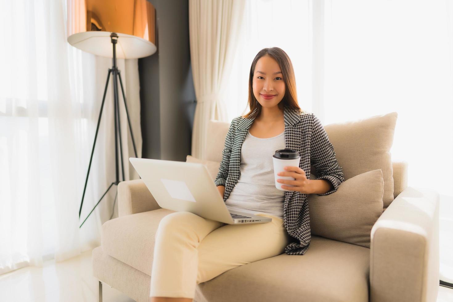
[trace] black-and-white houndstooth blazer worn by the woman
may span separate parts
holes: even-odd
[[[222,162],[215,179],[216,186],[225,186],[223,201],[226,201],[239,178],[242,143],[255,120],[256,113],[257,109],[249,118],[242,116],[234,118],[226,134]],[[305,176],[310,177],[310,165],[313,164],[316,179],[327,179],[333,184],[333,190],[318,195],[328,195],[337,191],[338,186],[344,182],[343,170],[338,166],[333,145],[318,117],[313,113],[285,107],[284,125],[285,147],[299,151],[299,168],[305,171]],[[271,154],[269,160],[270,157]],[[297,239],[297,242],[291,242],[286,246],[285,253],[304,255],[311,240],[307,194],[297,191],[285,192],[283,219],[288,234]]]

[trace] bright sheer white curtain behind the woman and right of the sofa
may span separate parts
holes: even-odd
[[[398,112],[392,159],[441,194],[440,275],[453,281],[453,5],[449,0],[250,0],[226,77],[228,118],[246,112],[256,53],[280,47],[299,105],[323,125]]]

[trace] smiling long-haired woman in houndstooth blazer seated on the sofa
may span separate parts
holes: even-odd
[[[256,55],[248,105],[250,112],[231,122],[215,183],[227,205],[260,211],[272,222],[227,225],[190,212],[165,216],[156,232],[150,301],[192,301],[197,284],[227,270],[283,252],[304,255],[311,238],[307,194],[328,195],[344,182],[320,120],[299,108],[292,63],[282,49]],[[279,179],[286,190],[280,191],[272,155],[284,148],[299,151],[301,159],[299,167],[279,173],[295,178]],[[317,179],[309,179],[310,165]]]

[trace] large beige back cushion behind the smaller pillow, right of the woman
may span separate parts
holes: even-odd
[[[382,170],[383,211],[393,201],[393,168],[390,148],[398,114],[375,115],[362,120],[324,126],[335,149],[345,180],[361,173]],[[313,172],[316,175],[316,172]]]

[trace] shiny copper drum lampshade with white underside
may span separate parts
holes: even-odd
[[[116,58],[156,52],[155,10],[147,0],[67,0],[67,42],[102,57],[113,56],[110,34],[118,35]]]

